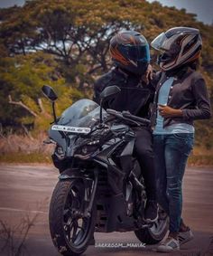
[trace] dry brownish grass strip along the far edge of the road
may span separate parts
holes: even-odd
[[[37,137],[15,134],[0,137],[0,163],[50,164],[54,146],[43,144],[46,137],[43,133]],[[194,147],[188,166],[213,166],[213,148]]]

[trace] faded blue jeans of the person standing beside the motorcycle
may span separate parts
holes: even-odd
[[[170,232],[179,232],[182,212],[182,178],[193,133],[153,135],[158,203],[169,214]]]

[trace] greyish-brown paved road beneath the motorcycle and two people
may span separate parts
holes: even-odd
[[[0,165],[0,220],[13,227],[26,214],[33,216],[38,211],[40,213],[29,232],[26,255],[59,255],[52,245],[48,227],[48,205],[57,177],[57,170],[51,166]],[[188,168],[183,190],[183,216],[193,230],[195,239],[185,244],[175,255],[197,256],[200,251],[208,251],[208,256],[213,255],[213,168]],[[97,243],[139,244],[134,232],[96,233],[95,239]],[[153,250],[154,246],[126,249],[89,246],[84,255],[158,255]],[[4,253],[0,252],[0,255]]]

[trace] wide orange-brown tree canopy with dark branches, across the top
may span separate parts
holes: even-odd
[[[109,39],[122,29],[134,29],[153,37],[169,27],[198,27],[204,40],[203,65],[212,69],[212,26],[196,21],[174,7],[142,0],[26,1],[23,7],[1,11],[0,35],[11,54],[42,50],[56,55],[69,67],[87,62],[87,71],[108,69]],[[209,42],[209,43],[208,43]]]

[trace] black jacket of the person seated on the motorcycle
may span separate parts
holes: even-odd
[[[115,68],[102,75],[94,84],[94,98],[98,104],[99,95],[107,86],[116,85],[121,92],[113,100],[104,103],[104,109],[117,111],[128,110],[131,114],[141,118],[149,118],[149,105],[153,102],[154,88],[151,84],[146,85],[141,77],[134,74],[126,74]]]

